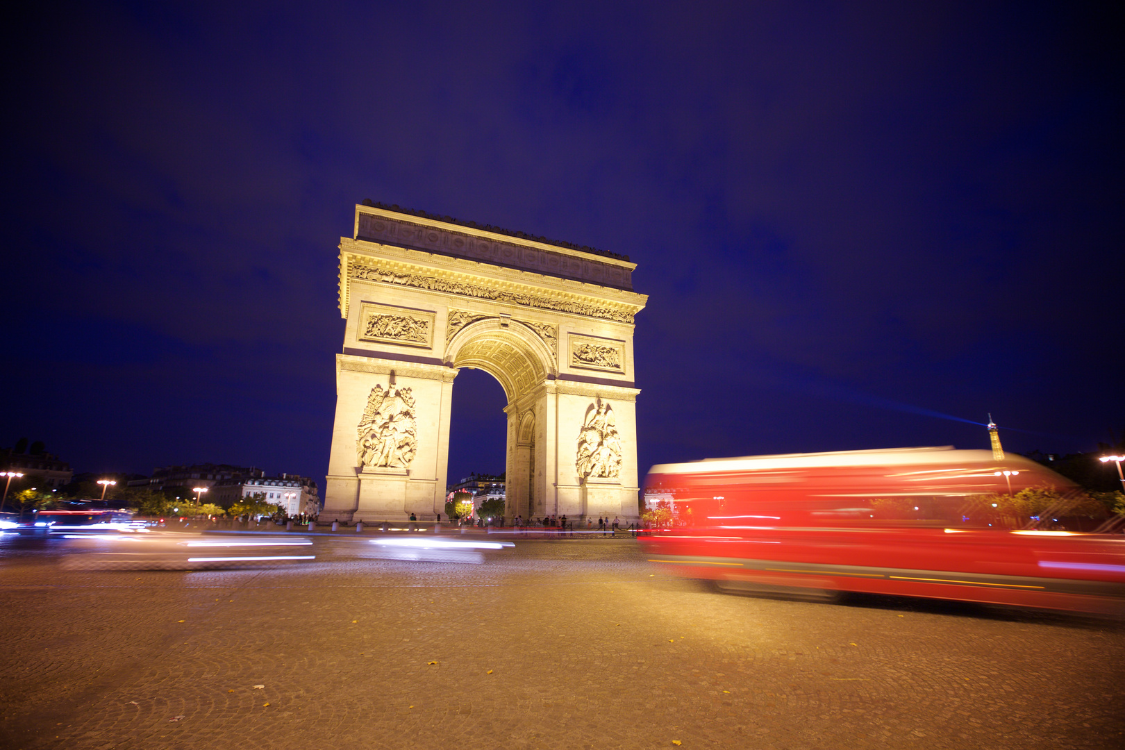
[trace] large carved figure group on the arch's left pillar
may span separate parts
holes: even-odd
[[[372,388],[356,437],[360,470],[408,467],[418,448],[416,430],[410,388]]]

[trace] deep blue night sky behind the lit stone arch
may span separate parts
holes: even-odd
[[[323,478],[364,198],[630,255],[642,470],[1125,430],[1120,17],[654,4],[10,16],[0,445]]]

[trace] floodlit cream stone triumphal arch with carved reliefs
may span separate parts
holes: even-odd
[[[453,379],[504,388],[508,517],[637,516],[634,263],[358,205],[322,518],[444,512]]]

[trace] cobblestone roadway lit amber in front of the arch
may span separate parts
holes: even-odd
[[[1122,748],[1125,626],[717,594],[636,542],[83,571],[0,542],[6,748]]]

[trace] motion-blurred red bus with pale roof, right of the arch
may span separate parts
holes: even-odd
[[[1125,614],[1120,535],[1034,527],[1051,522],[1042,515],[1005,527],[1016,519],[989,495],[1080,491],[1022,457],[922,448],[709,459],[655,466],[645,487],[673,497],[682,524],[644,537],[649,559],[723,590]]]

